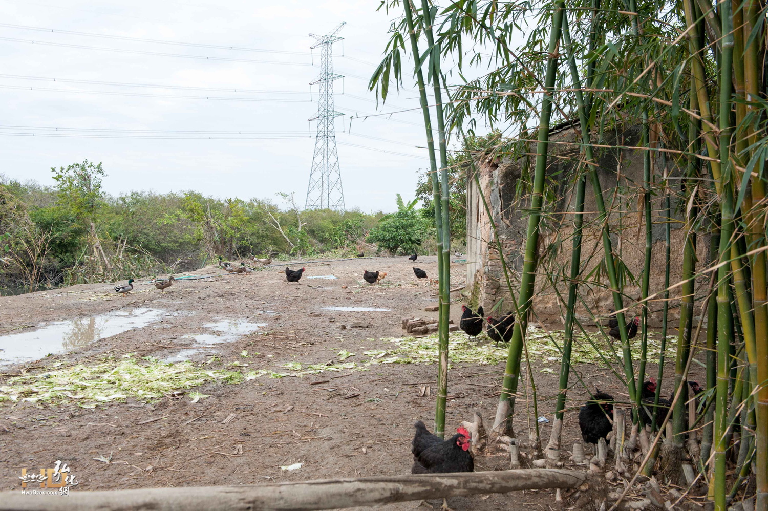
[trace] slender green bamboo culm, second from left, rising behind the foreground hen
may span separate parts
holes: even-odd
[[[415,10],[415,9],[414,9]],[[436,8],[429,8],[429,2],[422,0],[422,24],[423,30],[429,45],[429,80],[435,94],[435,117],[437,118],[438,147],[440,150],[440,184],[442,211],[442,253],[438,254],[442,261],[442,267],[439,267],[438,294],[439,304],[439,324],[438,324],[438,343],[439,343],[439,378],[438,378],[438,396],[435,410],[435,430],[438,426],[442,438],[445,434],[445,401],[448,397],[448,334],[449,320],[451,317],[451,225],[449,211],[449,183],[448,183],[448,150],[445,141],[445,115],[442,108],[442,91],[440,84],[442,82],[442,73],[440,72],[440,46],[435,44],[434,35],[432,35],[432,23]],[[437,417],[442,417],[438,422]],[[436,434],[436,433],[435,433]]]

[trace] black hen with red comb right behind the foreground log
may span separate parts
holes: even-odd
[[[411,443],[413,466],[411,473],[473,472],[475,462],[469,453],[470,434],[463,427],[448,440],[429,433],[419,420]]]

